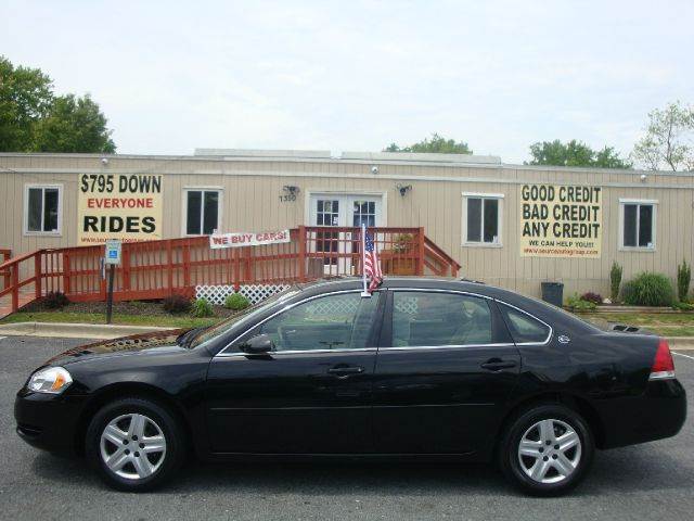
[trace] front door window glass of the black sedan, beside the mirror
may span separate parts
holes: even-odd
[[[378,294],[327,295],[298,304],[259,326],[275,351],[359,350],[367,347]]]

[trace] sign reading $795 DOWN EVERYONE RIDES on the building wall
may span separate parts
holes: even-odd
[[[79,243],[162,239],[162,189],[158,174],[80,174]]]

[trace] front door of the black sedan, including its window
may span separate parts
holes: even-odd
[[[371,401],[380,292],[309,297],[271,315],[210,363],[213,452],[339,454],[373,449]],[[273,351],[239,346],[269,335]]]

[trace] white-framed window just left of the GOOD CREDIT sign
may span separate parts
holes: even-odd
[[[501,245],[503,194],[463,192],[463,244]]]

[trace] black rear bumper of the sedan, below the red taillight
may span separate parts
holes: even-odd
[[[642,396],[605,401],[601,408],[601,448],[614,448],[674,436],[686,420],[686,393],[673,380],[648,382]]]

